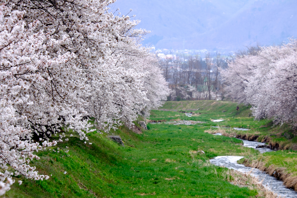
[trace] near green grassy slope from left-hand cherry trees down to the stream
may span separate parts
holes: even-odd
[[[227,169],[208,162],[216,154],[254,151],[242,148],[235,138],[213,137],[197,129],[156,125],[141,135],[118,130],[125,147],[95,133],[89,135],[92,145],[72,137],[59,145],[59,153],[45,151],[34,161],[40,173],[51,175],[49,180],[25,179],[5,197],[254,197],[248,188],[228,183],[232,178]],[[201,149],[206,153],[198,154]]]

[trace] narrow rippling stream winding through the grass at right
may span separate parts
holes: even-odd
[[[214,135],[222,135],[220,133],[216,133]],[[242,140],[245,147],[254,148],[260,153],[265,152],[271,152],[270,148],[256,148],[257,145],[265,145],[265,143],[262,142],[254,142],[254,141],[248,141],[248,140]],[[281,197],[286,198],[296,198],[297,192],[291,189],[287,189],[285,185],[283,185],[283,182],[280,180],[277,180],[273,176],[270,176],[266,174],[265,172],[260,171],[256,168],[251,167],[245,167],[243,164],[238,164],[237,161],[239,159],[243,158],[242,156],[217,156],[214,159],[210,159],[210,163],[217,165],[217,166],[224,166],[229,169],[234,169],[239,172],[249,172],[252,176],[258,178],[259,181],[262,182],[263,186],[266,186],[266,188],[274,193],[277,193]]]

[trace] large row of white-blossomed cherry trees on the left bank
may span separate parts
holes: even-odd
[[[108,132],[149,115],[168,94],[156,57],[139,44],[148,32],[109,12],[113,0],[2,2],[0,194],[13,175],[48,178],[29,162],[57,144],[50,136],[61,127],[88,141],[86,116]]]

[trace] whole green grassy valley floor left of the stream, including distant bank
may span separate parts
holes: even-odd
[[[109,134],[89,133],[92,142],[89,145],[66,133],[68,142],[39,153],[40,160],[31,163],[41,174],[50,175],[50,179],[32,181],[18,176],[2,197],[261,197],[254,192],[257,185],[251,178],[209,163],[209,159],[222,155],[250,156],[251,160],[252,157],[264,160],[269,155],[243,147],[236,138],[205,132],[217,130],[211,127],[217,125],[249,128],[250,134],[265,134],[265,129],[273,129],[271,121],[254,121],[249,107],[240,105],[240,111],[236,112],[236,106],[232,102],[166,102],[162,107],[166,111],[151,112],[150,120],[162,122],[148,124],[149,130],[143,130],[142,134],[124,126],[110,132],[120,135],[125,147],[108,139]],[[181,112],[195,115],[187,117]],[[212,122],[221,118],[225,121]],[[205,123],[167,124],[170,120]],[[283,153],[292,157],[293,162],[287,163],[292,166],[296,153]],[[18,185],[19,179],[23,180],[22,185]]]

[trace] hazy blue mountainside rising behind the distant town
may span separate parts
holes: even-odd
[[[150,30],[156,49],[236,51],[297,38],[296,0],[117,0],[110,7]]]

